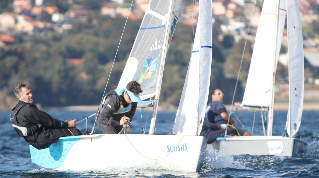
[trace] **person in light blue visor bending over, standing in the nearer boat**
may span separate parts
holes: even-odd
[[[106,94],[95,115],[96,123],[103,134],[117,134],[123,125],[132,121],[137,102],[141,101],[139,94],[142,92],[141,85],[131,81],[125,89],[115,89]],[[125,129],[130,132],[130,125]]]

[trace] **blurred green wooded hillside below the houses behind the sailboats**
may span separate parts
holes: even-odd
[[[50,22],[44,24],[47,27],[38,30],[34,27],[32,34],[3,31],[14,40],[7,39],[4,45],[0,45],[0,98],[4,101],[0,104],[0,109],[10,109],[16,104],[17,99],[13,90],[19,82],[31,83],[34,103],[40,103],[42,106],[98,105],[101,100],[126,17],[102,15],[103,4],[110,1],[96,0],[95,4],[87,4],[86,1],[80,0],[73,1],[73,4],[60,3],[62,1],[45,2],[47,6],[50,3],[56,5],[60,13],[66,14],[74,7],[86,8],[85,11],[81,12],[85,13],[86,16],[85,18],[81,16],[78,19],[69,19],[68,23]],[[10,3],[12,1],[0,3],[0,12],[2,12],[0,15],[4,15],[2,17],[6,17],[6,12],[13,11],[14,6],[12,7]],[[187,3],[189,2],[186,1],[184,6],[188,7]],[[124,4],[124,6],[128,5],[130,4]],[[185,12],[182,12],[184,15],[181,14],[181,17],[185,16],[186,11],[187,8],[185,8]],[[139,14],[137,11],[134,12]],[[50,18],[43,14],[30,16],[33,19],[38,18],[37,22],[39,23],[50,21]],[[160,105],[162,106],[178,105],[189,64],[192,36],[194,35],[192,28],[194,26],[192,27],[191,24],[189,25],[185,20],[182,20],[177,23],[166,57],[160,95]],[[64,21],[66,21],[65,17]],[[106,88],[107,92],[115,89],[118,84],[140,24],[141,18],[130,18],[127,21]],[[238,35],[222,31],[224,24],[225,18],[215,17],[210,84],[211,88],[223,90],[224,103],[229,104],[234,94],[245,38],[238,39]],[[309,28],[315,29],[311,26]],[[308,30],[308,32],[309,34],[314,32],[313,35],[316,36],[318,29],[315,30]],[[245,33],[241,32],[241,34]],[[250,35],[254,36],[254,30]],[[253,40],[248,40],[243,55],[235,101],[242,100],[252,48]],[[281,53],[285,52],[285,47],[282,47]],[[309,64],[308,61],[305,62],[305,74],[308,75],[308,78],[318,78],[318,68]],[[280,92],[278,90],[276,95],[280,101],[285,101],[285,99],[280,98],[281,96],[285,98],[285,88],[288,89],[285,84],[287,76],[287,68],[279,64],[276,77],[278,78],[278,86],[282,90]],[[306,87],[318,91],[318,87],[314,84],[309,83]],[[317,100],[314,99],[314,101]]]

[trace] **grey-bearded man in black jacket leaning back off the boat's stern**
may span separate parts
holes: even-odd
[[[18,136],[37,149],[48,148],[60,137],[82,135],[75,127],[75,119],[63,122],[41,111],[34,104],[30,83],[19,83],[14,89],[19,99],[11,110],[10,121]]]

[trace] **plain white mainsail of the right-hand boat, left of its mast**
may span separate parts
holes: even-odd
[[[272,102],[274,69],[276,70],[286,20],[286,0],[280,0],[276,39],[276,3],[275,0],[265,0],[263,3],[242,101],[246,106],[269,107]],[[276,43],[277,50],[274,48]],[[277,53],[274,59],[275,51]]]

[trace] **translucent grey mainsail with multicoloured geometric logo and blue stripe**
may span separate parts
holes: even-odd
[[[162,60],[165,60],[164,43],[168,41],[169,45],[171,42],[181,3],[181,0],[149,2],[117,88],[125,88],[128,82],[136,80],[143,89],[140,94],[142,100],[155,95],[159,87],[159,70]],[[173,8],[169,11],[171,4]],[[167,26],[168,18],[173,20]],[[166,31],[169,33],[168,39],[165,39]]]

